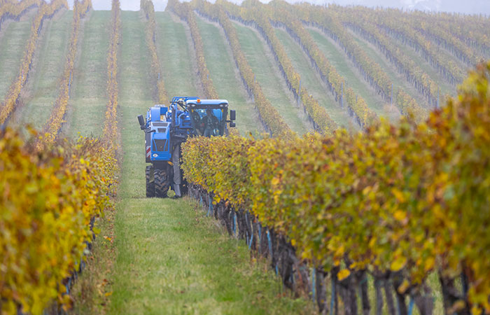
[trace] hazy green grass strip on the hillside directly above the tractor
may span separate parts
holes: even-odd
[[[199,96],[186,29],[167,12],[155,12],[155,22],[158,57],[168,97]]]

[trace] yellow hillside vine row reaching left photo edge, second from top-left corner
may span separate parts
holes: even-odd
[[[0,125],[5,123],[10,116],[10,113],[15,110],[15,106],[17,105],[17,101],[20,96],[20,91],[27,82],[27,76],[29,76],[32,58],[34,57],[34,50],[36,50],[38,36],[41,31],[41,27],[43,26],[43,20],[52,17],[52,15],[54,15],[57,10],[61,8],[68,8],[66,0],[53,0],[49,4],[41,2],[41,6],[31,26],[31,34],[25,48],[24,57],[22,57],[19,74],[13,81],[12,85],[10,85],[6,98],[1,104]]]

